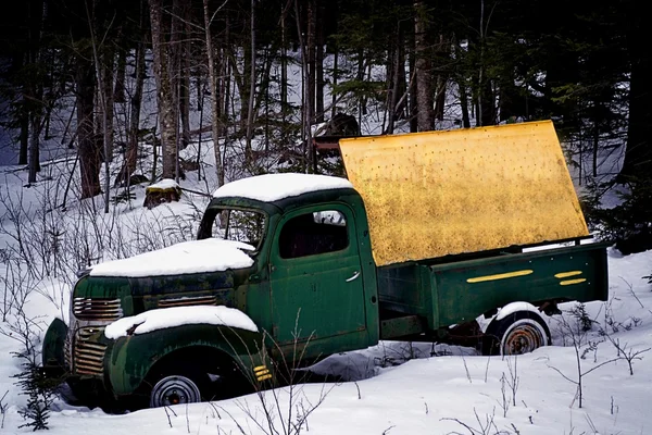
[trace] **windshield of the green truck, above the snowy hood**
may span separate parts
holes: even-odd
[[[259,211],[218,209],[211,236],[241,241],[258,250],[265,234],[265,214]]]

